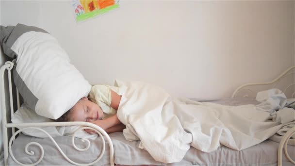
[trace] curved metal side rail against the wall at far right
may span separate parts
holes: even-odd
[[[255,98],[259,91],[278,88],[287,97],[295,98],[294,93],[294,78],[295,76],[295,66],[289,67],[276,79],[265,82],[265,83],[246,83],[238,88],[232,93],[231,98],[243,97],[243,98]],[[291,81],[290,81],[291,80]],[[286,84],[287,83],[287,84]],[[290,83],[290,84],[289,84]],[[263,86],[263,87],[262,87]]]

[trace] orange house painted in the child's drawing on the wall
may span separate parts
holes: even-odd
[[[115,4],[115,0],[80,0],[85,13],[92,12],[96,9],[103,9]]]

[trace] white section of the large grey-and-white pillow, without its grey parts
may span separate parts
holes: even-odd
[[[24,33],[12,50],[19,52],[16,71],[38,99],[34,108],[38,115],[57,119],[88,95],[91,85],[50,34]]]

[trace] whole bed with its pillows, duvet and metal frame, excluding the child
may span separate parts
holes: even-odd
[[[91,85],[50,33],[23,24],[0,29],[3,52],[12,58],[0,79],[5,165],[295,164],[294,66],[210,102],[173,100],[160,87],[116,81],[122,95],[116,115],[126,129],[108,135],[92,123],[53,120]]]

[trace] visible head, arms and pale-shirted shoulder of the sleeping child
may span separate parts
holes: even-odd
[[[108,85],[94,85],[88,97],[80,99],[57,121],[84,121],[98,125],[107,133],[122,132],[125,125],[116,116],[121,96],[118,88]],[[91,129],[86,132],[96,134]]]

